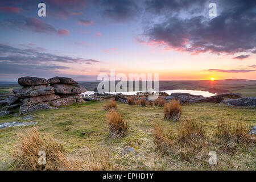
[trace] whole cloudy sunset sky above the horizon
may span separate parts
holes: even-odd
[[[256,1],[1,0],[0,81],[94,81],[110,69],[160,80],[256,80]]]

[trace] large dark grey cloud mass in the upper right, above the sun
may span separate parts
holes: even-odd
[[[170,10],[203,9],[207,1],[147,1],[152,13]],[[256,1],[217,1],[221,13],[207,16],[165,16],[161,23],[152,23],[144,30],[148,41],[162,43],[179,51],[200,53],[250,52],[256,48]],[[197,4],[201,6],[196,6]],[[203,7],[202,7],[203,6]],[[208,8],[205,6],[205,8]]]

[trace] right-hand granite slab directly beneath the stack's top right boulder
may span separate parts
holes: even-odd
[[[68,85],[68,84],[53,84],[55,93],[59,94],[80,94],[86,92],[86,89],[82,86]]]

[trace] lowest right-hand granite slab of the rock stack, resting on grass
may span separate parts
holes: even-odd
[[[81,98],[80,95],[74,95],[74,96],[61,96],[61,98],[49,102],[49,104],[53,107],[59,107],[59,106],[67,106],[74,104],[76,102],[84,103],[85,101]]]

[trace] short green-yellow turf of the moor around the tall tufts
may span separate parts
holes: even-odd
[[[247,125],[256,125],[255,108],[230,107],[222,104],[191,104],[184,105],[180,121],[164,120],[163,107],[127,105],[117,102],[117,111],[128,123],[129,133],[120,139],[109,139],[108,122],[104,105],[106,101],[86,102],[82,105],[71,105],[59,110],[41,110],[32,113],[37,115],[36,127],[40,133],[46,131],[57,142],[63,144],[65,150],[76,155],[80,152],[111,151],[116,163],[125,166],[127,170],[255,170],[255,143],[253,147],[241,147],[233,152],[223,152],[216,146],[204,148],[202,154],[192,152],[192,160],[181,159],[176,154],[162,155],[156,150],[152,135],[153,125],[160,122],[164,130],[176,133],[179,122],[186,118],[200,121],[206,130],[206,135],[212,138],[217,122],[241,121]],[[22,121],[20,117],[1,117],[0,122]],[[26,121],[28,122],[28,121]],[[0,129],[0,169],[13,169],[10,151],[16,148],[18,132],[24,132],[25,127],[10,127]],[[84,135],[81,135],[85,132]],[[125,148],[133,147],[134,151],[124,154]],[[216,147],[216,148],[215,148]],[[245,149],[246,148],[246,149]],[[182,148],[181,148],[182,149]],[[217,165],[208,164],[208,152],[217,152]]]

